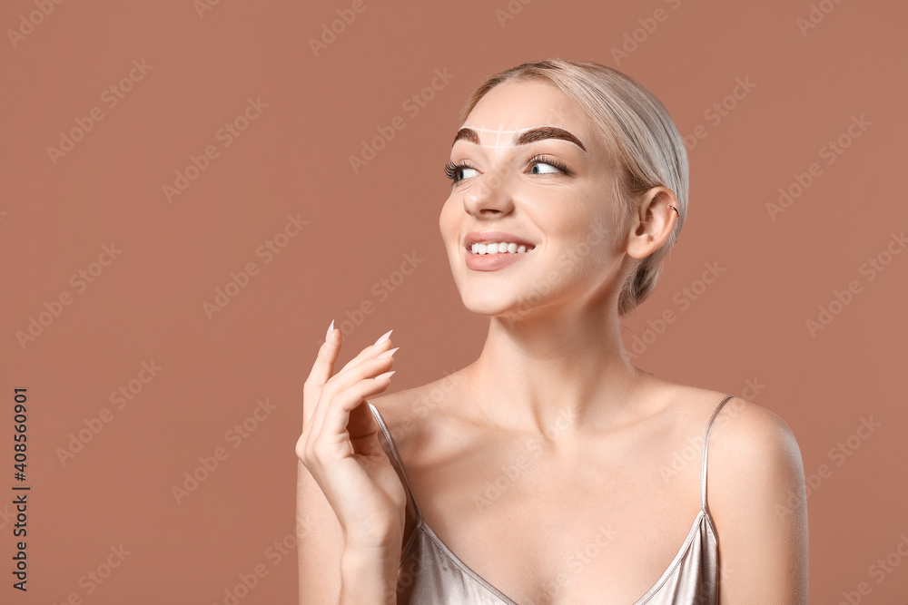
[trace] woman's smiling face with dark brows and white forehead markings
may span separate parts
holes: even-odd
[[[616,169],[565,93],[539,81],[498,84],[469,113],[450,160],[439,228],[469,310],[520,318],[617,296],[627,255]],[[473,254],[477,238],[526,251]]]

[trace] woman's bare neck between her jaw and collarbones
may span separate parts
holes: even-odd
[[[569,315],[491,318],[465,368],[470,400],[489,423],[550,437],[620,424],[638,401],[649,376],[630,363],[618,318]]]

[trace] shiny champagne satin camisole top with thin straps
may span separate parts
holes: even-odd
[[[706,453],[709,432],[727,395],[716,405],[706,425],[700,472],[700,511],[685,542],[662,577],[633,605],[716,605],[718,603],[718,558],[716,528],[706,507]],[[400,480],[410,494],[417,525],[400,555],[398,603],[429,605],[518,605],[459,560],[422,519],[403,463],[388,426],[378,409],[369,404],[384,436],[382,447],[389,454]]]

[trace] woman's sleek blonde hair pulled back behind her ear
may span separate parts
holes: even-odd
[[[460,112],[460,126],[486,93],[508,81],[544,80],[577,102],[592,118],[597,134],[616,161],[617,209],[627,222],[636,214],[637,196],[664,186],[677,198],[678,220],[666,243],[637,259],[617,297],[619,316],[649,296],[662,272],[662,260],[675,246],[687,215],[688,168],[684,140],[665,106],[624,73],[599,63],[548,59],[522,63],[489,76]]]

